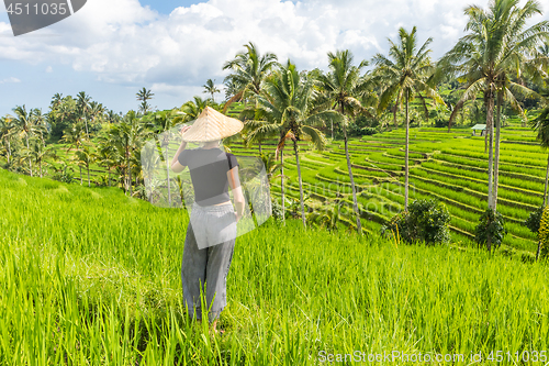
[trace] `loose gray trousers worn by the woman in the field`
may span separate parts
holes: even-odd
[[[195,313],[197,319],[202,319],[201,288],[202,293],[205,295],[208,309],[210,309],[210,322],[217,319],[226,307],[227,274],[235,246],[235,237],[232,237],[221,244],[199,249],[194,231],[211,233],[212,235],[206,236],[215,237],[215,234],[222,229],[221,226],[225,225],[227,215],[234,215],[234,212],[233,204],[193,207],[192,209],[191,221],[193,224],[190,221],[187,228],[181,263],[183,300],[191,318]]]

